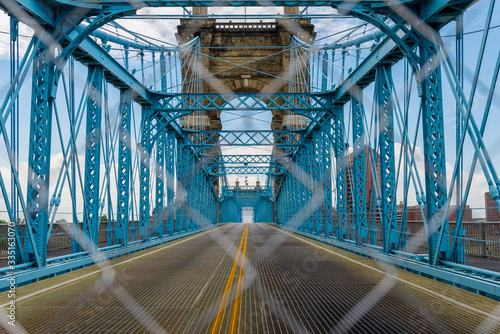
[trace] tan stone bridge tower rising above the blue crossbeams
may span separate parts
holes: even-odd
[[[195,7],[193,13],[206,15],[207,9]],[[182,19],[176,35],[179,44],[200,36],[200,50],[206,55],[201,57],[200,75],[206,78],[203,93],[289,92],[291,37],[304,42],[316,37],[311,20],[287,18],[293,14],[298,14],[298,7],[285,7],[283,18],[274,22]],[[235,65],[241,66],[232,68]],[[220,130],[220,112],[207,116],[208,130]],[[273,130],[281,129],[283,116],[283,112],[273,112]]]

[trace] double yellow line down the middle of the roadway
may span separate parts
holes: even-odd
[[[222,300],[219,305],[217,316],[215,317],[214,323],[212,324],[212,330],[210,331],[210,333],[212,334],[220,333],[220,327],[222,326],[222,320],[224,319],[226,306],[229,300],[229,294],[231,292],[231,288],[233,287],[234,274],[236,273],[238,263],[240,263],[238,282],[236,283],[236,296],[234,298],[231,317],[229,318],[230,319],[229,333],[234,333],[237,329],[236,323],[237,323],[239,306],[241,303],[241,286],[243,283],[243,272],[245,268],[245,254],[247,252],[247,237],[248,237],[248,224],[245,225],[245,229],[243,230],[240,246],[238,247],[238,253],[236,254],[236,258],[234,259],[231,272],[229,273],[229,277],[226,282],[226,287],[224,288],[224,294],[222,295]]]

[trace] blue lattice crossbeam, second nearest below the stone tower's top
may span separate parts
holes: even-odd
[[[186,131],[187,132],[187,131]],[[276,145],[280,147],[302,146],[303,132],[295,131],[197,131],[187,132],[185,146],[254,146]]]

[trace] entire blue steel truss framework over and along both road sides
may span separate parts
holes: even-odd
[[[104,213],[110,218],[107,223],[108,244],[123,247],[125,254],[128,252],[126,250],[135,247],[133,241],[137,239],[147,247],[159,244],[159,239],[171,240],[177,234],[189,235],[217,224],[242,222],[242,211],[246,207],[254,209],[255,222],[276,223],[354,251],[370,247],[385,254],[402,254],[401,251],[408,250],[406,243],[409,234],[406,212],[401,214],[401,218],[398,216],[396,190],[398,184],[404,183],[403,207],[406,209],[411,184],[423,216],[429,251],[427,257],[409,253],[404,253],[404,256],[413,257],[415,261],[425,262],[425,265],[434,268],[446,265],[464,269],[450,260],[463,262],[465,230],[462,220],[470,182],[465,193],[457,197],[457,207],[462,210],[456,209],[458,228],[450,235],[450,199],[452,195],[456,196],[453,187],[457,178],[460,179],[457,184],[461,184],[463,172],[459,168],[463,167],[460,167],[462,163],[455,164],[453,182],[448,189],[441,73],[447,75],[455,97],[453,104],[457,105],[456,123],[460,125],[457,128],[457,157],[460,157],[460,161],[464,160],[463,142],[468,135],[475,150],[470,174],[474,174],[476,161],[479,160],[495,205],[500,208],[500,180],[482,138],[494,96],[500,58],[493,71],[495,74],[488,95],[490,100],[485,108],[481,130],[476,125],[475,115],[471,114],[494,2],[488,10],[469,98],[462,88],[467,86],[463,82],[463,73],[455,73],[449,58],[443,57],[447,51],[442,48],[439,29],[459,17],[474,2],[226,1],[225,6],[330,6],[364,20],[376,31],[352,40],[314,47],[299,41],[297,36],[293,37],[294,47],[307,53],[311,59],[306,65],[309,74],[302,78],[301,84],[305,86],[302,91],[213,93],[203,92],[203,89],[193,90],[190,83],[185,82],[186,78],[179,77],[179,69],[188,66],[182,55],[191,52],[189,48],[195,42],[199,45],[199,39],[193,39],[184,48],[165,48],[141,44],[139,40],[129,42],[98,28],[115,18],[135,14],[143,7],[205,7],[220,5],[218,1],[12,1],[13,5],[25,12],[25,16],[17,18],[20,22],[34,29],[41,25],[46,33],[46,36],[37,34],[38,37],[33,38],[21,62],[11,54],[11,69],[15,69],[15,64],[19,64],[19,68],[17,72],[12,72],[11,86],[0,109],[0,132],[6,151],[10,154],[11,166],[11,175],[0,175],[2,196],[9,218],[15,220],[19,215],[15,212],[16,208],[21,208],[17,211],[23,211],[26,220],[24,230],[16,222],[16,237],[20,241],[18,250],[23,255],[17,256],[16,261],[20,263],[18,269],[37,266],[41,270],[40,277],[45,272],[54,274],[47,269],[48,264],[52,263],[52,260],[47,260],[47,245],[65,182],[72,194],[72,253],[76,257],[83,253],[95,255],[99,252],[99,229]],[[85,14],[82,15],[86,16],[67,15],[78,9],[77,6],[85,8]],[[419,11],[410,17],[404,11],[407,8],[405,6],[419,8]],[[13,17],[11,37],[15,44],[18,21],[14,16],[18,11],[13,10],[14,7],[7,8],[4,2],[0,2],[0,8]],[[185,19],[198,17],[206,18],[199,15],[186,16]],[[286,19],[286,16],[283,17]],[[296,17],[307,18],[300,14],[293,16],[294,19]],[[51,40],[57,42],[57,47],[47,45]],[[368,42],[372,43],[370,52],[366,57],[360,57],[361,44],[367,45],[365,43]],[[111,43],[123,47],[123,65],[108,52]],[[354,48],[356,65],[348,69],[345,62]],[[142,80],[138,79],[138,72],[129,68],[131,49],[138,51],[143,67],[140,73]],[[144,76],[146,51],[152,53],[152,67],[159,70],[159,73],[153,73],[155,82],[152,85],[146,84]],[[155,53],[160,55],[159,63],[155,60]],[[330,82],[334,76],[333,65],[337,61],[335,54],[342,56],[343,69],[338,85]],[[64,68],[70,56],[88,67],[87,84],[82,94],[82,104],[78,108],[75,105],[74,86],[66,85],[64,77]],[[292,65],[297,65],[293,64],[297,60],[292,58],[290,68],[296,68]],[[178,63],[175,63],[176,59]],[[405,59],[412,72],[404,79],[405,85],[410,85],[410,76],[413,75],[417,83],[415,90],[421,101],[416,123],[421,123],[423,129],[424,186],[414,157],[419,125],[416,126],[415,138],[409,138],[413,135],[412,131],[408,131],[409,98],[404,101],[404,107],[399,105],[392,79],[392,67],[401,59]],[[457,63],[461,62],[463,55],[457,55]],[[14,120],[19,118],[15,106],[23,105],[24,101],[19,101],[20,89],[30,67],[29,173],[24,198],[19,185],[19,163],[16,164],[13,157],[19,151],[16,148],[19,138],[16,138],[16,131],[11,130],[9,133],[6,125],[10,120],[10,129],[15,129]],[[201,82],[202,78],[196,80]],[[174,81],[177,85],[174,85]],[[108,131],[108,83],[118,88],[120,94],[119,117],[114,131]],[[157,89],[157,83],[160,89]],[[375,86],[373,109],[376,129],[370,132],[372,129],[365,115],[363,89],[372,83]],[[72,92],[68,93],[68,90]],[[408,88],[410,91],[411,88]],[[66,100],[67,106],[56,103],[58,94],[62,92],[66,96],[61,100]],[[136,107],[139,105],[136,109],[140,109],[137,111],[140,115],[134,114],[134,103]],[[67,139],[62,135],[60,125],[64,107],[72,115],[68,143],[64,143]],[[193,113],[203,117],[199,115],[244,110],[271,111],[274,120],[279,119],[276,117],[279,115],[305,117],[307,122],[304,122],[306,125],[303,129],[293,128],[283,122],[273,124],[273,130],[223,131],[214,130],[218,129],[217,124],[192,128],[186,125],[187,122],[181,121],[182,117]],[[344,115],[347,110],[349,118]],[[139,118],[140,124],[136,124]],[[57,129],[53,129],[53,122],[57,124]],[[80,166],[76,159],[79,154],[76,143],[81,122],[85,127],[80,133],[80,137],[85,140],[85,167],[84,175],[79,175],[82,181],[78,184],[76,173],[80,173]],[[349,129],[352,139],[348,138]],[[56,180],[56,190],[52,193],[52,137],[57,135],[61,141],[64,163]],[[396,161],[396,140],[401,140],[403,147],[400,152],[404,160],[402,170],[399,169],[401,163]],[[257,145],[272,147],[273,153],[222,153],[228,146],[244,149],[244,146]],[[102,166],[105,173],[102,173]],[[370,171],[375,184],[371,198],[367,197],[366,191]],[[263,175],[267,180],[263,186],[232,186],[228,185],[230,174]],[[10,199],[5,187],[7,177],[13,179]],[[116,207],[110,200],[113,177],[116,178]],[[76,203],[78,185],[83,193],[79,206]],[[138,196],[134,195],[136,192]],[[81,223],[78,222],[77,207],[81,210]],[[375,225],[376,220],[381,226],[381,238],[377,238],[379,230]],[[380,241],[377,239],[381,239],[381,242],[377,243]],[[367,246],[368,243],[371,245]],[[381,258],[384,256],[388,255]],[[398,261],[406,260],[400,258]],[[76,264],[72,266],[68,264],[65,268],[71,270],[77,267]],[[411,265],[409,267],[413,268]],[[478,272],[473,268],[466,270]],[[436,274],[436,277],[448,277],[439,275]],[[488,275],[491,276],[490,273]],[[464,283],[464,286],[467,284]],[[494,284],[491,283],[484,290]]]

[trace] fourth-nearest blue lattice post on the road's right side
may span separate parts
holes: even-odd
[[[347,160],[345,156],[346,142],[344,135],[344,110],[336,106],[335,112],[335,158],[337,165],[337,225],[336,237],[339,240],[347,238]]]

